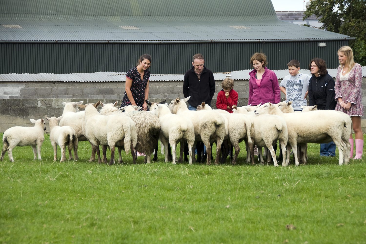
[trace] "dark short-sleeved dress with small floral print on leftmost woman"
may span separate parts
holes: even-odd
[[[126,77],[132,80],[131,93],[136,105],[142,107],[142,104],[145,102],[145,88],[150,78],[150,71],[145,70],[143,79],[141,80],[141,75],[137,68],[133,67],[127,72]],[[121,107],[128,105],[131,105],[131,102],[128,99],[127,93],[125,91]],[[149,108],[147,108],[147,110],[149,110]]]

